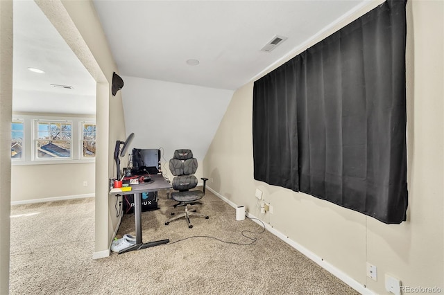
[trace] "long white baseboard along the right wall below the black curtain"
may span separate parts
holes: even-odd
[[[223,197],[223,195],[217,193],[216,190],[213,190],[212,188],[210,188],[208,186],[207,186],[207,190],[210,190],[212,193],[214,193],[214,195],[216,195],[217,197],[222,199],[224,202],[230,204],[230,206],[232,206],[233,208],[237,208],[237,206],[238,206],[237,204],[234,204],[232,201],[230,201],[226,197]],[[339,278],[339,280],[342,280],[345,284],[349,285],[350,287],[355,289],[360,294],[365,294],[365,295],[374,295],[375,294],[375,293],[371,292],[369,289],[367,289],[366,287],[364,287],[364,285],[362,285],[361,283],[357,282],[356,280],[354,280],[353,278],[348,276],[348,274],[345,274],[343,271],[341,271],[340,269],[338,269],[334,265],[323,260],[321,257],[317,256],[315,253],[309,251],[309,249],[307,249],[307,248],[303,247],[301,244],[298,244],[297,242],[291,240],[290,238],[288,238],[286,235],[284,235],[283,233],[281,233],[277,229],[274,229],[273,226],[271,226],[270,224],[267,224],[266,222],[264,222],[264,223],[259,222],[260,218],[255,217],[253,214],[247,213],[247,216],[249,218],[254,218],[254,219],[252,219],[253,222],[256,222],[257,224],[259,224],[261,226],[265,226],[265,229],[267,231],[269,231],[270,233],[273,233],[273,235],[276,235],[278,238],[280,238],[281,240],[283,240],[284,242],[289,244],[291,247],[300,251],[300,253],[304,254],[305,256],[307,256],[307,258],[316,262],[317,265],[321,266],[323,269],[330,272],[330,274],[336,276],[336,278]]]

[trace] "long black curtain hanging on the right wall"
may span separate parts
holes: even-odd
[[[406,2],[382,3],[255,82],[256,180],[406,220]]]

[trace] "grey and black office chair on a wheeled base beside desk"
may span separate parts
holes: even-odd
[[[197,186],[197,178],[193,175],[197,170],[197,159],[193,158],[193,152],[191,150],[176,150],[174,151],[173,159],[169,160],[169,170],[171,174],[175,176],[173,178],[173,190],[178,190],[177,192],[171,193],[171,198],[178,202],[178,204],[173,207],[184,206],[185,212],[180,213],[174,217],[171,217],[165,222],[168,225],[173,220],[178,220],[179,218],[185,217],[188,222],[188,227],[191,229],[193,225],[189,221],[190,216],[209,217],[205,214],[196,213],[196,209],[189,208],[190,205],[202,204],[198,200],[202,199],[205,195],[205,184],[207,178],[201,178],[203,180],[203,191],[202,190],[191,190]],[[171,213],[174,215],[174,213]]]

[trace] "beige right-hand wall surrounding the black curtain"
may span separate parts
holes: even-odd
[[[407,10],[407,222],[383,224],[316,197],[255,181],[253,82],[234,93],[203,161],[203,174],[216,193],[246,206],[361,291],[365,285],[364,290],[377,294],[388,294],[384,274],[399,278],[404,286],[436,286],[444,292],[444,2],[409,1]],[[264,192],[273,214],[260,213],[256,188]],[[366,277],[366,262],[377,266],[377,282]]]

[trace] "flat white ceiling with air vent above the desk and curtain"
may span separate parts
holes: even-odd
[[[246,84],[364,2],[93,0],[122,75],[220,89]],[[260,51],[275,35],[288,39]]]

